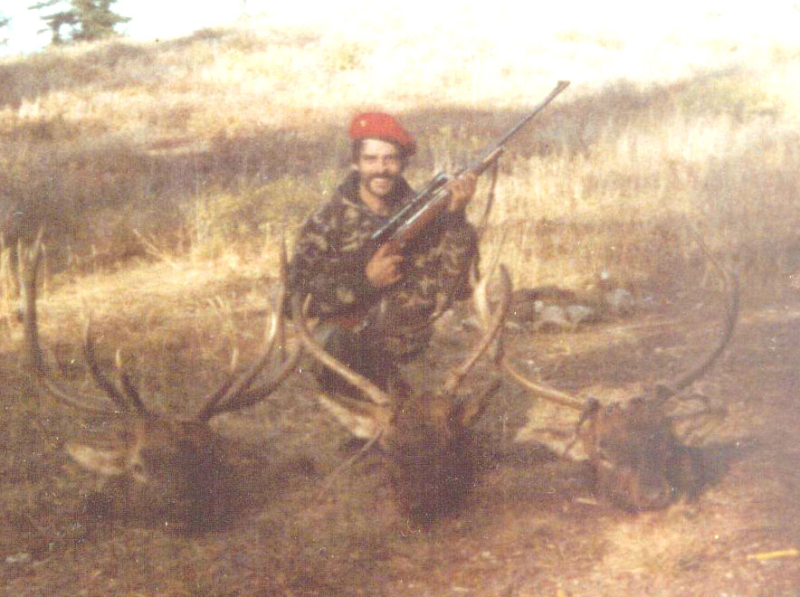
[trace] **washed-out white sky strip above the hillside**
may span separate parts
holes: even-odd
[[[0,14],[12,19],[3,30],[8,39],[0,46],[0,55],[34,52],[45,46],[48,33],[36,33],[43,27],[42,11],[28,10],[36,0],[2,0]],[[66,3],[65,3],[66,4]],[[718,30],[726,36],[750,38],[755,36],[794,37],[800,27],[800,0],[760,0],[752,3],[731,3],[728,0],[672,0],[667,5],[643,3],[641,0],[562,0],[557,3],[521,3],[518,0],[461,0],[457,8],[430,0],[404,0],[402,4],[367,5],[355,0],[227,0],[198,2],[197,0],[118,0],[112,9],[129,16],[128,24],[118,31],[129,37],[151,41],[170,39],[192,33],[203,27],[231,24],[244,14],[268,14],[275,23],[317,24],[343,28],[355,23],[368,23],[369,19],[397,19],[404,26],[430,24],[431,20],[447,21],[453,10],[480,14],[474,20],[481,26],[486,19],[496,24],[526,24],[535,32],[548,26],[559,29],[588,29],[624,33],[628,36],[646,36],[651,30],[675,31],[702,28],[710,33]],[[382,12],[383,11],[383,12]],[[485,18],[484,18],[485,17]],[[689,33],[689,32],[687,32]]]

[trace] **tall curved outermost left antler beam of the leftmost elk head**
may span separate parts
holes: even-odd
[[[110,405],[100,406],[98,404],[86,403],[89,399],[92,402],[102,400],[94,396],[85,396],[75,393],[70,388],[60,384],[50,376],[50,367],[46,364],[42,346],[39,342],[39,326],[36,317],[36,280],[38,277],[39,264],[42,262],[42,238],[43,231],[39,231],[33,245],[27,250],[23,249],[22,242],[17,245],[20,279],[20,293],[24,307],[24,345],[25,355],[31,373],[36,381],[42,384],[43,388],[52,397],[72,408],[92,413],[119,414],[119,411],[110,408]],[[117,403],[117,406],[120,406]]]

